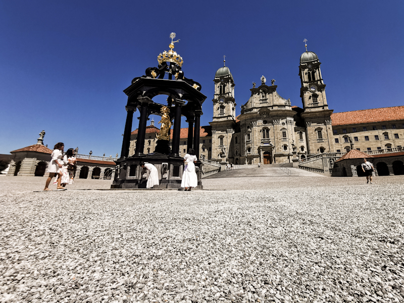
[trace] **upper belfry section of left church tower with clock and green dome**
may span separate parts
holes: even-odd
[[[223,56],[224,58],[226,56]],[[213,120],[235,120],[236,103],[234,99],[234,79],[223,60],[223,67],[215,74],[215,93],[213,96]]]

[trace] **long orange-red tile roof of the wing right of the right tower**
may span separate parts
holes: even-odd
[[[332,126],[404,120],[404,106],[331,114]]]

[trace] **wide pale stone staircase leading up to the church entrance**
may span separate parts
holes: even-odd
[[[216,178],[239,178],[239,177],[323,177],[310,171],[288,167],[290,175],[279,167],[279,165],[240,165],[239,169],[221,171],[214,175],[203,177],[204,179]]]

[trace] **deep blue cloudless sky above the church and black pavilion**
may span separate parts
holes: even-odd
[[[394,0],[3,0],[0,154],[36,143],[42,129],[51,148],[62,141],[81,154],[120,153],[123,90],[158,65],[171,32],[181,39],[175,51],[185,77],[201,83],[207,95],[201,125],[212,119],[213,78],[223,55],[236,84],[237,114],[262,75],[301,107],[298,65],[305,38],[322,63],[334,112],[401,106],[403,20],[404,2]]]

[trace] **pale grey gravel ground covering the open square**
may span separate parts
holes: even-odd
[[[44,181],[0,177],[1,302],[404,301],[404,176]]]

